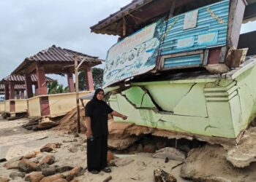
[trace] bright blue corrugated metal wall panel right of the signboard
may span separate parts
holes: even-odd
[[[192,50],[203,50],[208,47],[220,47],[227,44],[229,4],[230,1],[225,0],[195,9],[198,11],[197,25],[195,28],[190,28],[188,30],[184,30],[184,17],[186,13],[170,18],[167,21],[167,27],[171,27],[171,29],[166,33],[165,41],[161,46],[161,55],[188,52]],[[211,13],[207,11],[208,8],[212,13],[214,13],[214,15],[216,14],[215,16],[222,18],[223,23],[219,23],[216,18],[212,17]],[[214,34],[216,36],[216,42],[200,44],[198,40],[199,36],[208,36],[209,34]],[[189,42],[189,39],[193,39],[191,45],[188,47],[178,47],[178,41],[186,40]]]

